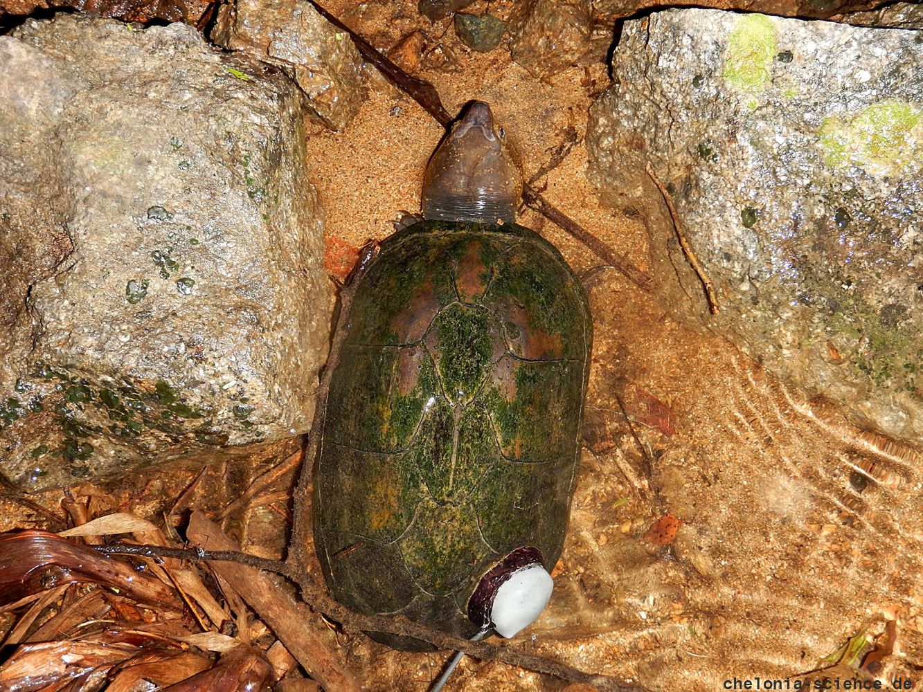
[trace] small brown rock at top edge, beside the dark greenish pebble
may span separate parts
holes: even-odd
[[[606,31],[611,42],[611,32]],[[513,60],[535,77],[549,78],[590,54],[600,60],[605,47],[593,42],[590,0],[525,0],[509,18]]]

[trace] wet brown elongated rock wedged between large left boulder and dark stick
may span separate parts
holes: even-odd
[[[305,92],[318,117],[335,130],[349,125],[366,100],[362,58],[352,40],[306,0],[234,0],[222,5],[211,40],[281,66]]]

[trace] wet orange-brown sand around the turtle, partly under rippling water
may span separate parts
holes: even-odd
[[[488,101],[527,176],[568,127],[582,138],[587,108],[608,85],[603,64],[539,81],[502,47],[467,51],[448,22],[430,25],[415,5],[338,1],[328,8],[386,48],[423,30],[427,54],[418,76],[436,85],[450,112],[470,99]],[[509,5],[490,7],[503,15]],[[422,172],[442,134],[380,78],[370,77],[369,86],[369,100],[345,131],[318,125],[309,133],[333,274],[351,266],[356,246],[391,233],[402,210],[418,209]],[[648,215],[600,207],[585,171],[579,144],[535,185],[546,185],[559,209],[647,267],[651,254],[665,251],[647,245]],[[555,243],[578,274],[603,264],[532,211],[520,221]],[[509,645],[653,690],[719,690],[735,677],[794,680],[863,628],[883,645],[885,622],[896,620],[882,679],[889,687],[895,676],[923,682],[923,459],[850,427],[830,406],[812,405],[707,330],[678,324],[655,295],[616,271],[594,272],[587,290],[595,343],[569,535],[552,602]],[[233,494],[259,469],[216,483]],[[150,507],[160,506],[158,493],[175,492],[163,479],[145,483]],[[260,553],[278,555],[282,505],[253,508],[231,528]],[[677,520],[652,531],[667,514]],[[447,659],[389,650],[319,622],[308,626],[323,632],[368,690],[423,692]],[[564,686],[466,659],[447,689]]]

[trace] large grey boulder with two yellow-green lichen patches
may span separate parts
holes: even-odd
[[[923,46],[910,30],[670,10],[625,24],[587,135],[604,199],[647,205],[677,313],[852,420],[923,444]],[[647,201],[641,201],[646,199]]]

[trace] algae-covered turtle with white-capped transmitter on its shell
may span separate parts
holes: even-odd
[[[466,638],[511,637],[549,600],[593,340],[579,280],[515,222],[510,149],[472,101],[426,167],[422,221],[350,287],[313,470],[333,596]]]

